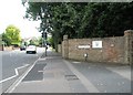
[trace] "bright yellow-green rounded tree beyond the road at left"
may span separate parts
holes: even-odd
[[[20,30],[14,25],[7,27],[6,33],[3,33],[3,40],[6,40],[8,45],[20,45]]]

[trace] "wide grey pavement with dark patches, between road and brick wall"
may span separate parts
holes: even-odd
[[[48,50],[6,93],[131,93],[131,67],[64,60]]]

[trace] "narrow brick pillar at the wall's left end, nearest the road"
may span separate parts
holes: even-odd
[[[63,35],[62,56],[64,59],[69,59],[69,40],[68,40],[68,35]]]

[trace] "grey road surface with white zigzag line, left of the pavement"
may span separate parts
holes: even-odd
[[[2,92],[4,92],[16,80],[33,64],[44,52],[44,49],[38,48],[37,54],[27,54],[25,51],[13,50],[3,51],[1,62],[0,84],[2,84]]]

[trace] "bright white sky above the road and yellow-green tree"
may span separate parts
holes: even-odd
[[[23,19],[25,8],[21,0],[2,0],[0,2],[0,34],[6,28],[13,24],[20,29],[21,38],[40,36],[41,33],[35,29],[39,28],[39,21],[29,21]]]

